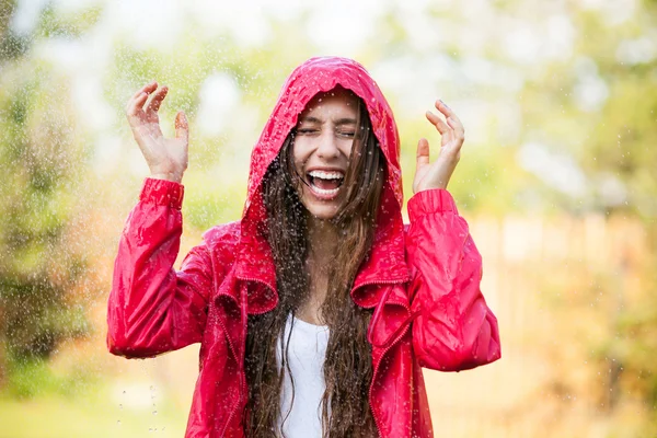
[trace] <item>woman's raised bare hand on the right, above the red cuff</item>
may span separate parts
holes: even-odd
[[[461,157],[461,147],[465,139],[463,124],[442,101],[436,101],[436,110],[445,115],[445,120],[429,111],[426,117],[440,132],[440,152],[436,161],[429,162],[429,142],[426,138],[419,139],[413,193],[429,188],[447,188]]]

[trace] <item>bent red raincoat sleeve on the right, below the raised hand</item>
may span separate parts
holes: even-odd
[[[413,347],[423,367],[460,371],[499,359],[497,319],[480,290],[482,257],[445,189],[408,200]]]

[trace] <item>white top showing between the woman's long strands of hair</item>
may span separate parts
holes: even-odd
[[[287,342],[292,318],[288,318],[284,342]],[[324,359],[328,344],[328,327],[314,325],[293,319],[292,335],[288,345],[288,365],[295,382],[292,403],[292,380],[287,368],[284,370],[280,394],[280,415],[286,438],[322,437],[322,395],[324,395]],[[283,348],[280,339],[276,348],[276,364],[280,370]],[[290,411],[291,407],[291,411]],[[288,415],[289,411],[289,415]],[[286,418],[287,416],[287,418]]]

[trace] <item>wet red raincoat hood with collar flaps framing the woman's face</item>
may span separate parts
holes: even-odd
[[[336,85],[351,90],[366,103],[372,130],[387,161],[387,182],[383,186],[374,242],[370,256],[355,279],[351,297],[359,306],[373,307],[374,297],[359,296],[358,289],[361,286],[407,281],[401,216],[403,192],[400,138],[392,110],[374,80],[360,64],[339,57],[311,58],[288,77],[251,154],[237,275],[242,280],[260,283],[275,293],[263,291],[250,296],[250,312],[269,311],[278,301],[272,251],[262,232],[262,223],[266,218],[261,195],[262,180],[308,102],[315,94],[330,91]]]

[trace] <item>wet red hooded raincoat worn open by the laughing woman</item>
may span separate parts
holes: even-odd
[[[257,231],[261,182],[306,104],[337,84],[366,102],[388,162],[371,256],[351,290],[356,304],[373,309],[369,397],[380,436],[434,436],[420,367],[459,371],[500,357],[497,320],[480,290],[482,260],[451,195],[414,195],[404,226],[390,106],[359,64],[313,58],[286,81],[253,149],[242,220],[208,230],[176,272],[183,186],[147,178],[120,238],[107,346],[134,358],[201,344],[187,438],[244,436],[246,318],[274,309],[278,297],[270,250]]]

